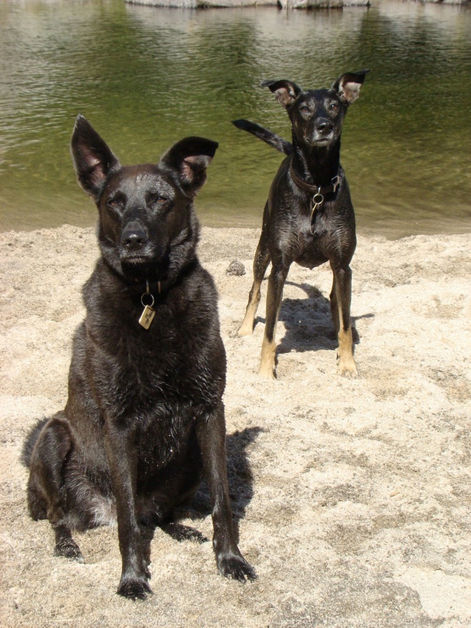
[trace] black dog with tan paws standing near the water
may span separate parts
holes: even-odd
[[[253,260],[253,286],[238,332],[240,336],[253,332],[260,285],[271,261],[260,364],[260,375],[267,379],[275,377],[275,328],[283,286],[293,261],[311,269],[330,262],[330,311],[338,334],[338,370],[347,377],[358,375],[350,324],[355,215],[340,166],[340,134],[348,106],[358,98],[367,72],[349,72],[340,76],[332,89],[310,91],[303,91],[291,81],[265,81],[263,86],[268,86],[288,111],[293,144],[257,124],[234,122],[238,128],[289,155],[273,179],[265,205]]]

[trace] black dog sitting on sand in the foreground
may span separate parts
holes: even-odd
[[[187,137],[158,165],[126,166],[82,116],[78,181],[99,213],[101,259],[83,288],[64,412],[31,432],[31,517],[57,556],[83,561],[71,529],[118,522],[118,593],[146,597],[150,543],[204,472],[221,574],[255,577],[239,552],[226,472],[226,354],[213,279],[196,257],[193,197],[218,144]]]

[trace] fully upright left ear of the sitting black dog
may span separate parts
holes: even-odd
[[[106,142],[81,115],[75,121],[71,153],[78,183],[97,201],[106,178],[121,165]]]

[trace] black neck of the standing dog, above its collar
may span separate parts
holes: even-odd
[[[293,133],[291,163],[295,173],[315,186],[330,184],[340,169],[340,139],[329,146],[305,146]]]

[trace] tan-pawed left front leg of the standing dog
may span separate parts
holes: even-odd
[[[276,324],[278,323],[283,287],[288,276],[288,270],[289,266],[273,265],[268,277],[265,334],[258,371],[258,374],[265,379],[275,379]]]

